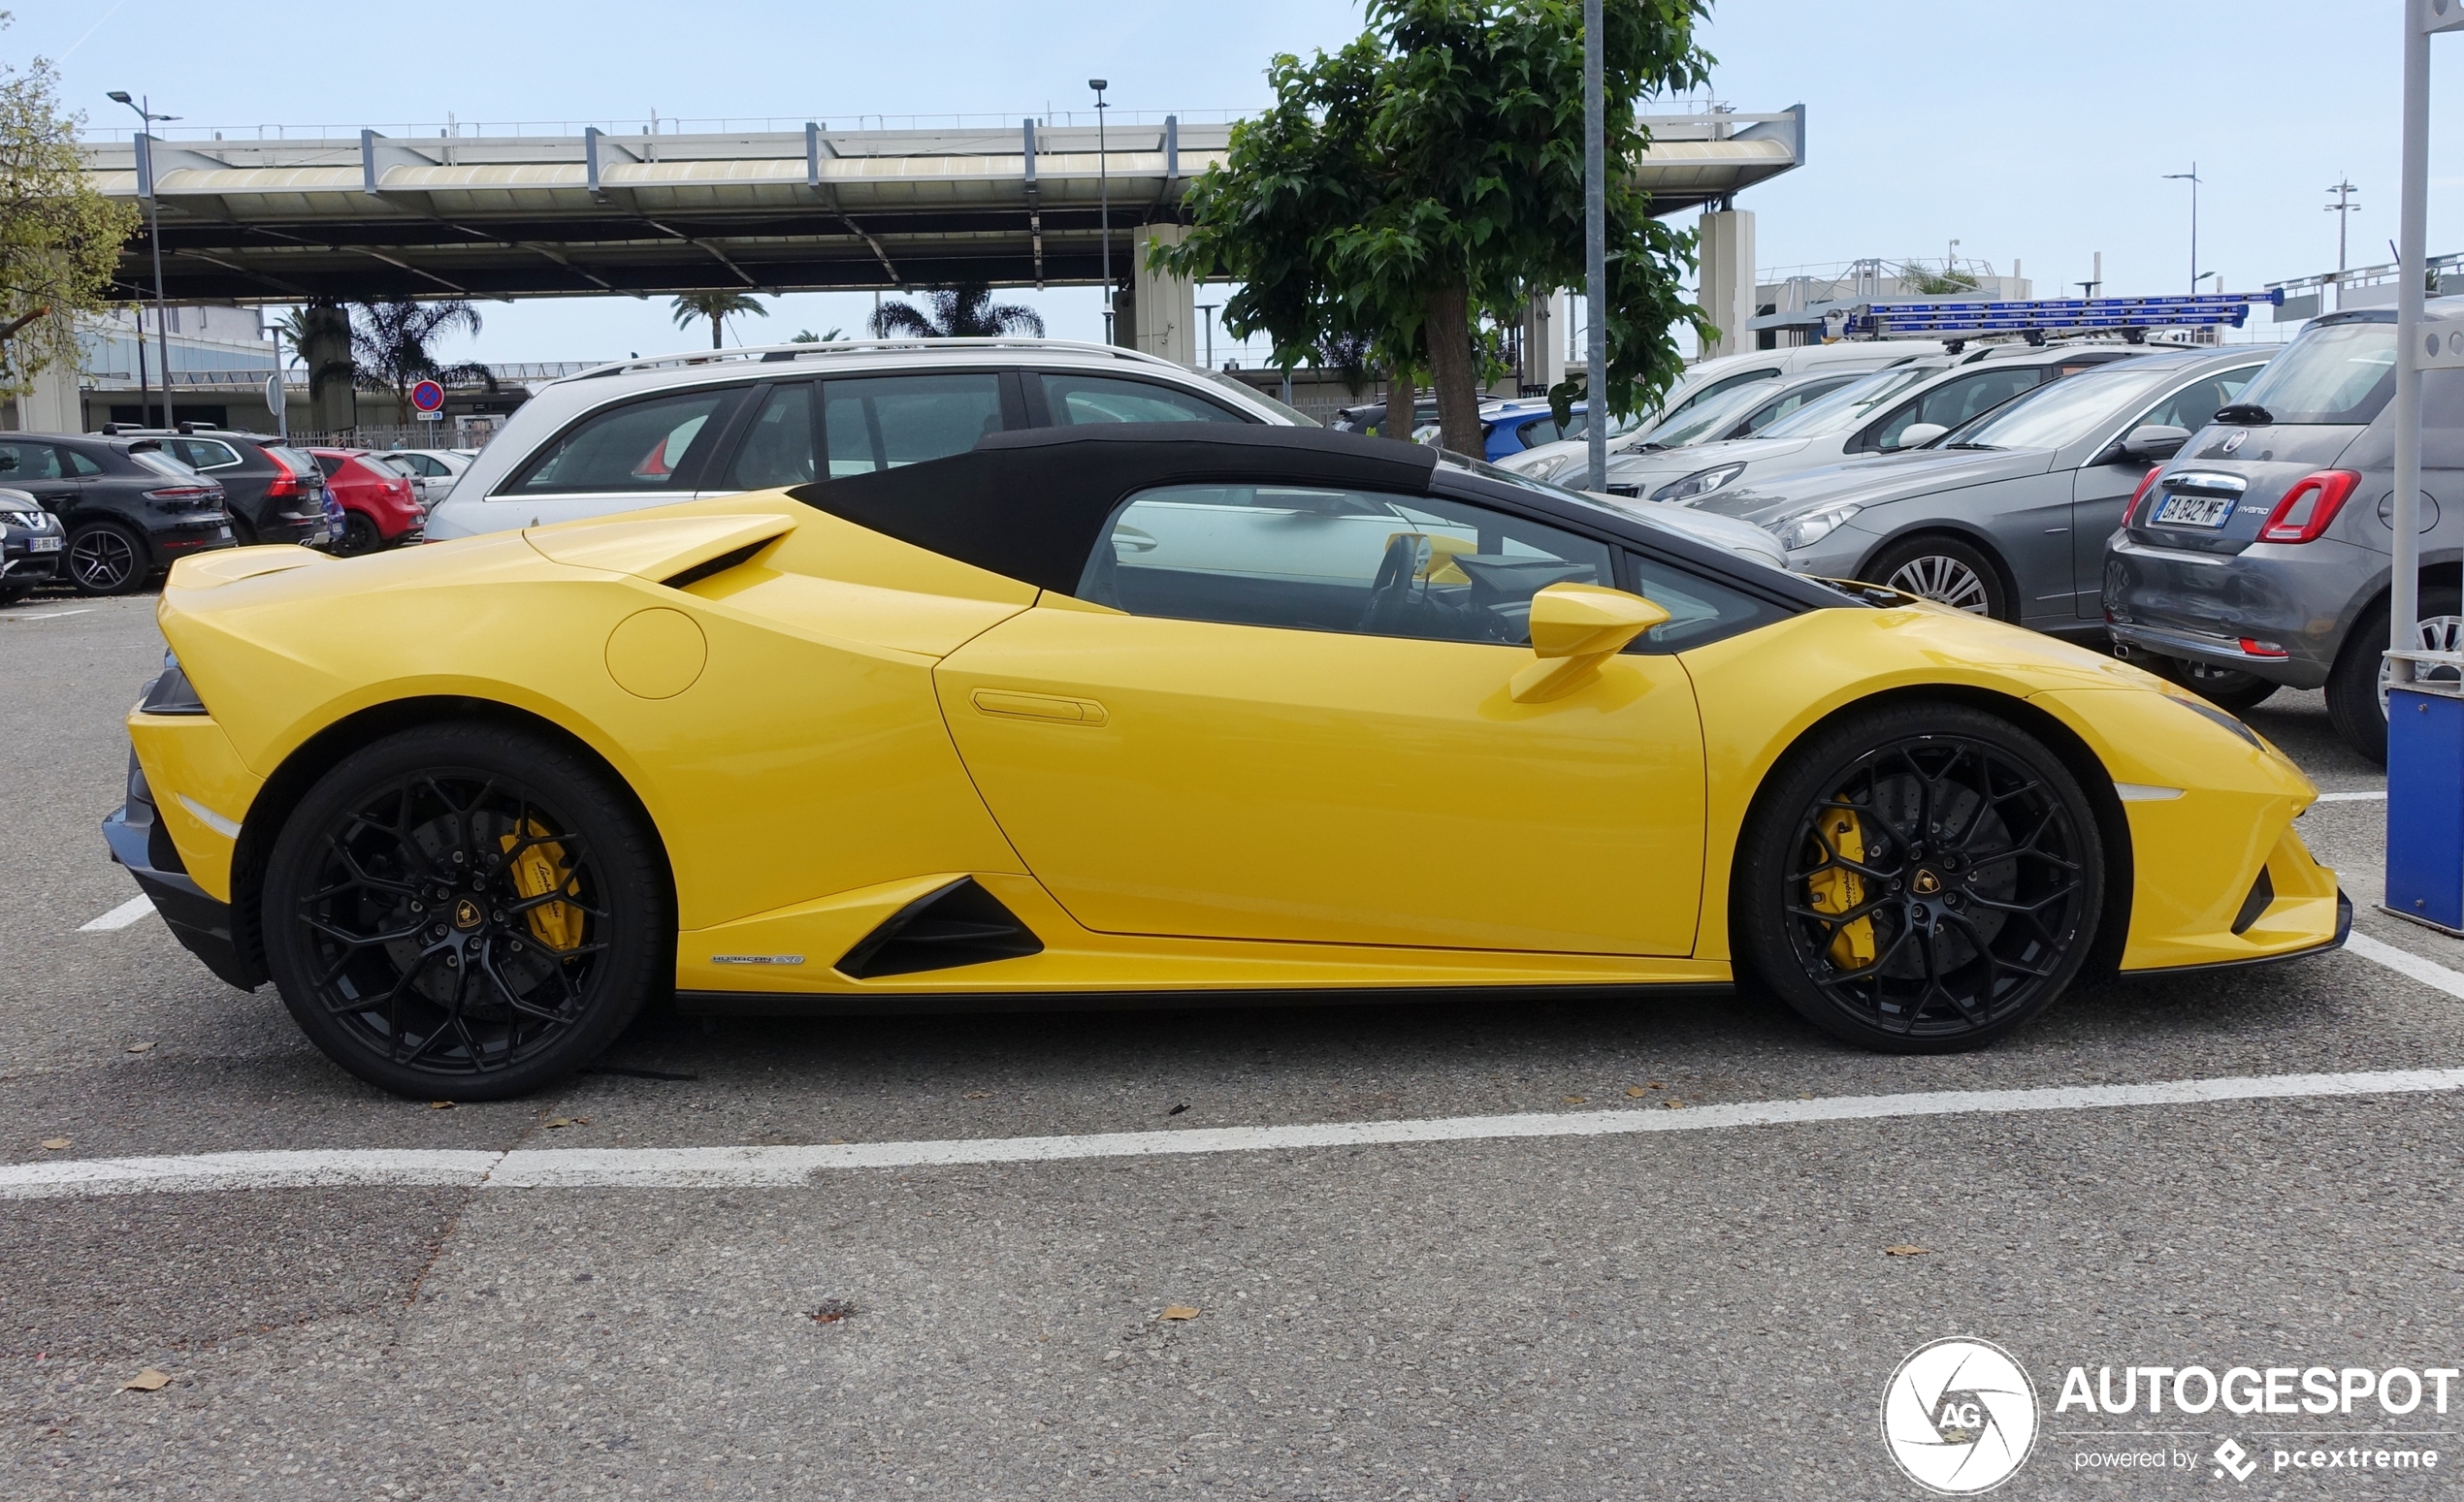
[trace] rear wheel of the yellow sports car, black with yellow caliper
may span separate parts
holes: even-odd
[[[397,1096],[503,1101],[564,1078],[675,980],[665,864],[631,808],[596,763],[505,726],[352,753],[266,864],[283,1005]]]

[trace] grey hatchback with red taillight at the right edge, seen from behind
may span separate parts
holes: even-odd
[[[2464,298],[2430,330],[2464,335]],[[2242,704],[2326,689],[2348,746],[2388,756],[2383,653],[2395,537],[2395,313],[2314,320],[2141,488],[2104,549],[2104,618],[2134,662],[2198,665]],[[2422,620],[2464,638],[2464,369],[2422,374]],[[2198,682],[2198,680],[2193,680]],[[2208,687],[2208,685],[2198,685]]]

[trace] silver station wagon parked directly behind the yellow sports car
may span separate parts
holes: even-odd
[[[764,345],[540,387],[429,512],[429,539],[885,470],[1069,424],[1308,424],[1230,377],[1064,340]]]

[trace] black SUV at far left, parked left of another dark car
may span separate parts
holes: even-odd
[[[76,593],[131,593],[187,554],[232,547],[222,485],[163,453],[160,438],[0,433],[0,485],[67,527]]]

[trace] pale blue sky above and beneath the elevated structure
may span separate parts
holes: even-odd
[[[360,126],[867,113],[1027,116],[1084,106],[1089,76],[1146,111],[1266,101],[1274,52],[1360,30],[1340,0],[1242,5],[983,5],[971,0],[599,0],[495,10],[264,2],[246,25],[170,0],[17,0],[10,59],[59,59],[94,128],[133,123],[103,98],[150,94],[182,126]],[[1757,187],[1762,266],[1961,256],[2040,295],[2104,254],[2109,293],[2183,291],[2198,163],[2200,271],[2227,288],[2331,271],[2326,185],[2351,175],[2353,263],[2395,234],[2397,0],[1727,0],[1708,47],[1712,94],[1742,111],[1809,108],[1809,163]],[[2464,249],[2464,42],[2439,39],[2430,249]],[[1094,291],[1020,293],[1055,335],[1096,337]],[[870,295],[784,298],[752,340],[850,332]],[[702,342],[665,303],[483,305],[456,350],[483,359],[591,359]],[[2252,332],[2274,337],[2257,325]],[[1217,345],[1222,355],[1227,345]]]

